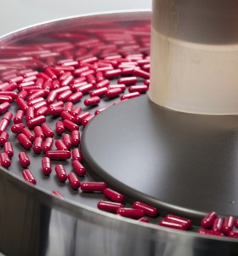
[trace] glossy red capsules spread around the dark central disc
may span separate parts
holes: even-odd
[[[92,38],[92,33],[97,37]],[[110,102],[122,102],[148,90],[150,24],[116,31],[110,27],[80,28],[47,37],[51,38],[50,43],[0,45],[1,165],[9,168],[11,159],[18,157],[22,177],[36,184],[27,154],[33,150],[39,157],[43,154],[42,172],[46,177],[50,177],[56,160],[54,172],[60,183],[69,183],[72,189],[85,193],[104,195],[108,201],[98,202],[100,210],[148,223],[149,218],[159,215],[155,207],[140,201],[125,207],[125,197],[108,188],[106,183],[80,180],[87,171],[79,148],[80,131],[95,115],[108,108]],[[108,106],[101,108],[102,101],[108,102]],[[11,113],[8,109],[13,105],[16,109]],[[54,127],[47,123],[49,117],[57,119]],[[18,156],[14,155],[7,131],[14,133],[20,143],[22,150]],[[54,139],[56,134],[61,138]],[[71,161],[74,172],[67,172],[65,165],[58,164],[57,160]],[[64,199],[58,190],[52,194]],[[226,218],[222,225],[221,218],[209,214],[201,222],[204,229],[198,230],[200,234],[222,236],[222,230],[214,227],[238,226],[233,218]],[[173,214],[158,224],[177,230],[191,228],[190,219]],[[223,232],[238,237],[232,228]]]

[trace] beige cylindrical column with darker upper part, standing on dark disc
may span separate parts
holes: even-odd
[[[238,113],[238,2],[153,0],[150,100],[204,114]]]

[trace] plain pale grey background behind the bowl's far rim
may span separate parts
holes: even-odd
[[[0,36],[38,22],[71,15],[150,9],[151,0],[0,0]]]

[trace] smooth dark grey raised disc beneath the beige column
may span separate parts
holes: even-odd
[[[193,219],[237,215],[236,116],[179,113],[140,96],[93,119],[82,154],[95,177],[132,201]]]

